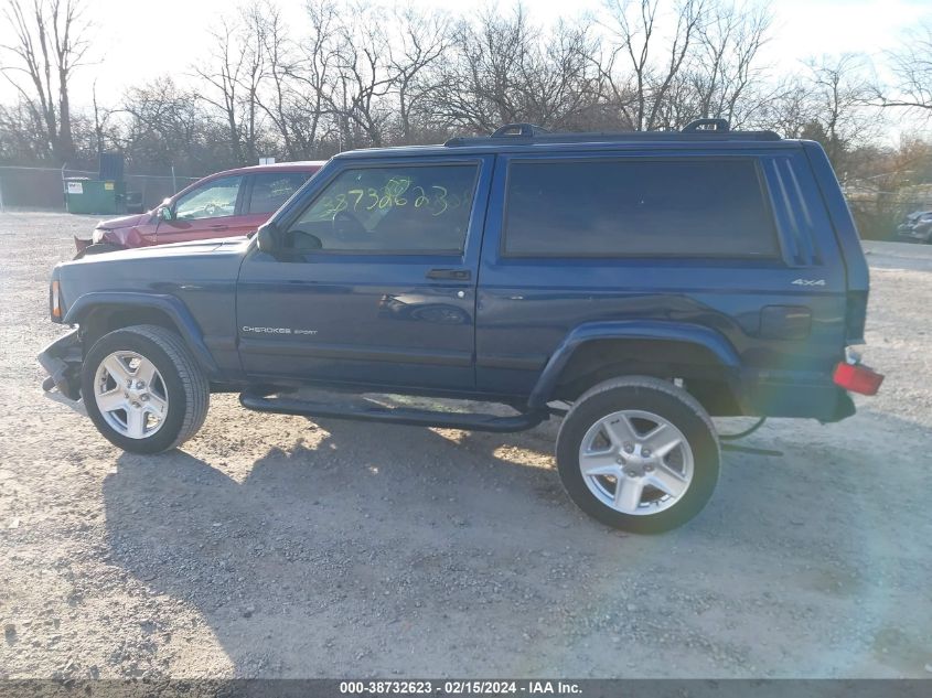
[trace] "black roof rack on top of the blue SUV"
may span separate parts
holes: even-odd
[[[613,143],[639,140],[782,140],[774,131],[732,131],[727,119],[696,119],[682,131],[620,131],[553,133],[534,124],[506,124],[491,136],[458,136],[446,143],[448,148],[461,146],[492,146],[508,143]]]

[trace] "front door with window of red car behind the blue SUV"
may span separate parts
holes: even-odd
[[[238,215],[244,180],[242,174],[221,176],[182,194],[172,206],[172,219],[159,223],[156,244],[232,237],[255,229]]]

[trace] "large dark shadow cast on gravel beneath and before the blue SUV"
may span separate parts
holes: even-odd
[[[240,481],[124,454],[110,561],[195,608],[246,677],[921,673],[930,609],[896,619],[930,573],[911,528],[928,474],[874,453],[890,425],[857,419],[844,445],[762,432],[786,458],[727,455],[706,512],[656,537],[580,514],[542,434],[321,422]],[[903,516],[864,476],[881,457],[908,474]],[[153,614],[183,634],[170,604]]]

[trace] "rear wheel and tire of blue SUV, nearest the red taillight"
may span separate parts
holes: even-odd
[[[708,502],[719,472],[711,420],[688,393],[658,378],[601,383],[574,405],[557,438],[572,501],[614,528],[676,528]]]

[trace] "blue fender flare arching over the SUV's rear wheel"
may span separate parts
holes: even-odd
[[[719,364],[738,375],[741,359],[731,343],[719,332],[705,325],[663,320],[612,320],[587,322],[577,325],[557,346],[544,367],[537,384],[527,399],[531,409],[544,407],[550,401],[560,374],[576,350],[599,340],[664,340],[701,346],[716,357]]]

